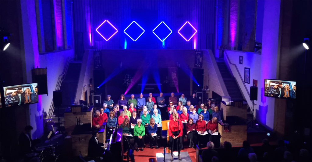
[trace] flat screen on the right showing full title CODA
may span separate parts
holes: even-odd
[[[273,79],[264,80],[264,96],[277,98],[296,98],[296,82]]]

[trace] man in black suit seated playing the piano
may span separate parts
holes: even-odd
[[[99,131],[93,130],[92,137],[89,140],[88,156],[90,158],[102,157],[104,161],[111,161],[112,153],[109,150],[105,150],[107,145],[100,143],[98,137]]]

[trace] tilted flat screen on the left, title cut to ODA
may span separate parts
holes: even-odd
[[[37,83],[3,87],[5,106],[38,103]]]

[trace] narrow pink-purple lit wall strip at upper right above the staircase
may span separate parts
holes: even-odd
[[[229,44],[231,47],[236,46],[237,21],[238,21],[238,0],[231,0],[230,2],[230,40],[229,40]]]

